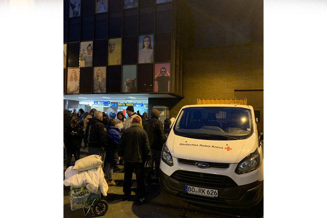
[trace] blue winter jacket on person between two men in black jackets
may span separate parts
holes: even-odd
[[[108,163],[112,163],[113,150],[118,149],[118,145],[120,142],[120,133],[117,127],[107,125],[106,128],[108,133],[108,149],[106,150],[106,161]]]

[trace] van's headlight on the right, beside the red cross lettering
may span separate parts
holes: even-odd
[[[235,173],[244,174],[248,172],[252,172],[253,170],[258,169],[260,166],[260,154],[258,149],[249,154],[246,158],[244,158],[240,163],[238,163]]]

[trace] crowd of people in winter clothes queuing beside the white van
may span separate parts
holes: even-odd
[[[144,202],[144,165],[148,161],[151,166],[151,182],[148,184],[159,184],[161,150],[168,135],[166,128],[171,126],[171,122],[166,119],[169,122],[165,120],[163,124],[159,120],[160,112],[157,109],[151,110],[150,118],[147,112],[142,115],[139,111],[134,112],[133,106],[128,106],[126,113],[127,117],[122,111],[118,111],[115,117],[114,111],[111,111],[110,117],[97,109],[91,109],[90,112],[79,109],[78,113],[74,111],[73,114],[64,110],[64,159],[68,168],[72,164],[73,155],[75,161],[79,160],[80,149],[84,144],[89,155],[101,156],[104,162],[102,168],[109,186],[117,185],[112,177],[113,172],[120,170],[117,163],[123,164],[124,199],[130,199],[134,172],[137,182],[136,194],[138,199]]]

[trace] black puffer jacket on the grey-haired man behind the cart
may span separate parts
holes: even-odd
[[[97,118],[89,119],[85,130],[85,137],[88,146],[91,148],[105,149],[108,147],[108,133],[105,124]]]

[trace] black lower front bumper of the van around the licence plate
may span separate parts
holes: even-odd
[[[206,197],[186,193],[184,191],[184,185],[217,189],[218,197]],[[251,208],[259,204],[264,195],[264,181],[256,181],[241,186],[235,184],[235,186],[224,188],[213,186],[206,187],[198,184],[194,185],[180,182],[177,179],[166,175],[161,169],[160,188],[165,194],[187,202],[224,208]]]

